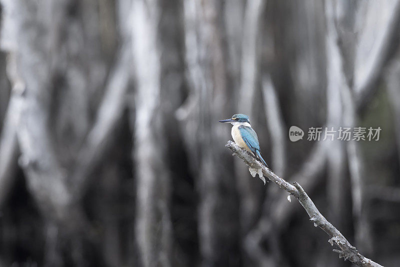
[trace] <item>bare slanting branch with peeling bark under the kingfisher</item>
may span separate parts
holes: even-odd
[[[293,182],[294,185],[285,181],[281,177],[277,176],[270,169],[263,166],[260,162],[258,162],[255,158],[253,158],[248,152],[241,149],[238,145],[236,145],[232,141],[228,141],[225,146],[229,148],[233,152],[233,155],[238,156],[239,158],[244,160],[244,163],[249,168],[257,169],[257,172],[262,171],[262,174],[267,177],[269,180],[275,182],[280,188],[292,194],[294,197],[298,199],[300,204],[303,206],[305,211],[307,212],[310,220],[314,223],[314,226],[319,226],[322,230],[324,230],[330,237],[328,240],[331,245],[335,243],[340,250],[336,250],[335,252],[339,252],[340,257],[344,257],[344,259],[348,259],[352,263],[358,266],[381,266],[378,263],[364,257],[354,246],[352,246],[347,239],[329,222],[326,220],[324,216],[318,211],[315,204],[305,193],[303,188],[297,183]]]

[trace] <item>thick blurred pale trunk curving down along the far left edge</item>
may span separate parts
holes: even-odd
[[[63,24],[62,10],[66,1],[52,6],[23,1],[3,1],[2,4],[5,17],[1,45],[9,52],[8,75],[13,90],[19,94],[16,99],[16,132],[21,150],[19,162],[28,189],[47,219],[47,225],[63,225],[65,228],[60,235],[66,232],[77,234],[76,226],[82,225],[83,217],[68,190],[67,175],[57,159],[49,124],[51,94],[54,92],[50,77],[54,75],[52,68],[57,69],[51,64],[54,62],[51,59],[60,59],[54,54],[57,54],[57,33]],[[38,27],[43,30],[37,30]],[[73,223],[66,223],[71,218]],[[71,238],[74,237],[76,235],[72,234]],[[56,240],[57,237],[47,239],[49,242]],[[57,246],[52,243],[48,247],[56,249]],[[51,261],[59,256],[47,256],[58,251],[47,252],[46,264],[61,263]],[[82,263],[80,252],[74,253],[73,260]]]

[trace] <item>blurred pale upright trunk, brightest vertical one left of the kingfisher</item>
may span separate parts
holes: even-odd
[[[143,266],[171,265],[170,177],[165,166],[163,114],[159,108],[160,1],[133,1],[133,59],[136,93],[133,157],[137,177],[135,235]],[[134,118],[133,118],[134,117]]]

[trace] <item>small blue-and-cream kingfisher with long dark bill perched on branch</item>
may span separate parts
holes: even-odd
[[[222,119],[219,120],[219,122],[231,123],[233,126],[230,133],[232,134],[234,142],[244,150],[250,152],[255,158],[258,158],[268,167],[259,152],[257,134],[253,128],[251,128],[250,120],[247,115],[234,114],[231,118]]]

